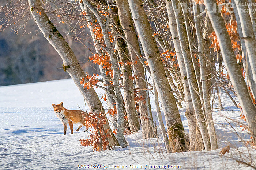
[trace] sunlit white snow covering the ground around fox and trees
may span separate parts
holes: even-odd
[[[96,91],[100,97],[103,95],[99,88]],[[244,123],[240,120],[240,109],[224,93],[222,100],[224,111],[216,104],[214,108],[218,150],[167,154],[161,135],[147,140],[142,139],[139,132],[126,136],[129,147],[98,153],[90,146],[80,145],[79,139],[88,136],[83,130],[69,135],[68,126],[67,135],[63,136],[63,124],[53,112],[52,103],[61,101],[67,109],[77,110],[79,105],[86,110],[84,99],[71,79],[0,87],[0,169],[59,170],[78,169],[84,165],[91,166],[83,169],[157,169],[162,165],[167,168],[161,169],[252,169],[238,163],[253,162],[255,166],[256,157],[254,150],[243,145],[242,139],[249,139],[249,136],[240,127]],[[106,108],[106,103],[103,102],[103,106]],[[153,116],[157,121],[154,108],[153,104]],[[179,110],[188,133],[185,108]],[[219,155],[221,148],[227,145],[230,145],[229,153]]]

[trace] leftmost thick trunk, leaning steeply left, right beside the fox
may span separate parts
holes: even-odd
[[[86,77],[86,75],[82,67],[80,66],[78,60],[76,59],[73,51],[68,46],[68,43],[64,40],[63,36],[56,29],[56,27],[54,27],[53,23],[45,14],[44,9],[42,8],[41,1],[28,0],[28,2],[30,6],[30,12],[35,20],[35,23],[38,25],[39,29],[44,34],[44,37],[58,52],[58,54],[63,60],[63,65],[70,67],[66,68],[66,70],[68,71],[69,75],[71,76],[79,91],[86,100],[86,103],[88,104],[90,111],[96,113],[103,112],[105,114],[104,108],[102,107],[102,104],[95,90],[93,88],[91,88],[91,90],[86,90],[81,86],[80,78]],[[37,11],[40,11],[40,13],[38,13]],[[108,138],[109,144],[115,145],[116,138],[114,137],[108,122],[104,125],[104,128],[106,130],[109,130],[111,134],[111,137]]]

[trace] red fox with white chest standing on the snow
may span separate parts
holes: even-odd
[[[82,110],[68,110],[65,107],[63,107],[63,102],[61,102],[60,104],[52,104],[52,106],[53,111],[56,113],[60,121],[63,123],[63,135],[66,135],[67,133],[67,124],[69,124],[71,134],[73,134],[73,123],[81,124],[76,131],[79,131],[82,125],[86,126],[86,124],[84,123],[84,117],[88,115],[86,112]]]

